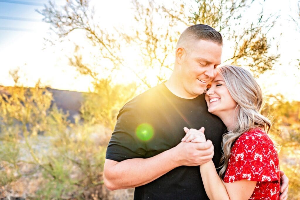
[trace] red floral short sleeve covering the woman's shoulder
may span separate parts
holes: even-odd
[[[245,177],[255,181],[280,179],[276,148],[268,134],[259,128],[250,129],[237,139],[231,149],[227,168],[227,174],[236,173],[235,180]]]

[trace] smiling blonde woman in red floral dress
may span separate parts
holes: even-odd
[[[278,199],[279,161],[268,137],[270,121],[260,114],[262,92],[245,69],[227,65],[207,86],[208,111],[220,117],[228,133],[223,135],[219,176],[212,161],[200,165],[210,199]],[[184,128],[185,142],[203,142],[204,128]],[[212,175],[213,174],[213,175]]]

